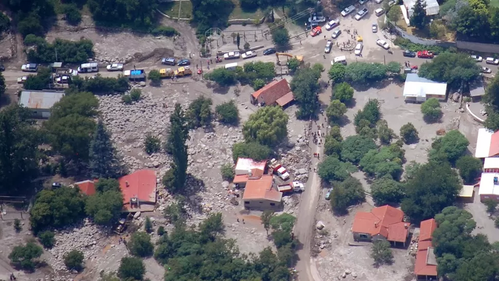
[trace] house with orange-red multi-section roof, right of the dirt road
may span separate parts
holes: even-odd
[[[404,212],[384,205],[376,207],[371,212],[358,212],[355,214],[352,225],[353,239],[355,241],[365,240],[387,240],[397,244],[405,242],[409,236],[408,222],[404,221]]]

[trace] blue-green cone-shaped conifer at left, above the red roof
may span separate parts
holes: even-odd
[[[111,142],[111,134],[99,120],[90,143],[90,170],[94,178],[117,178],[120,165],[116,158],[116,150]]]

